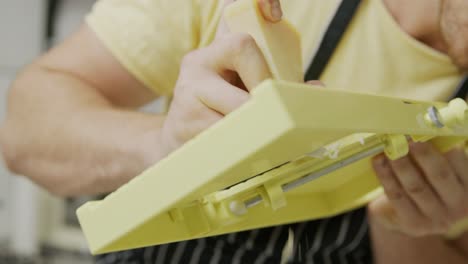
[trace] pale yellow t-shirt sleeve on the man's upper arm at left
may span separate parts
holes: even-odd
[[[168,95],[182,57],[199,45],[199,10],[196,0],[100,0],[86,22],[131,74]]]

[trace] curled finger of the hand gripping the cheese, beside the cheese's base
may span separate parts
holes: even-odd
[[[220,75],[226,71],[237,72],[249,91],[265,79],[271,78],[262,52],[255,40],[247,34],[230,33],[208,48],[210,56],[204,60],[205,66]]]

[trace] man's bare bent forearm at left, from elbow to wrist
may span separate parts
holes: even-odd
[[[33,65],[9,94],[11,170],[62,196],[115,190],[165,155],[162,116],[117,109],[77,76]]]

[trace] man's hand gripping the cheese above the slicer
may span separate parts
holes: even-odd
[[[259,7],[270,22],[281,20],[279,0],[259,0]],[[237,109],[267,78],[268,65],[253,38],[229,33],[221,21],[213,43],[189,53],[182,62],[161,133],[165,151],[170,153]]]

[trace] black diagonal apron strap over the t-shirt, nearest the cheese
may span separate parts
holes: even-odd
[[[361,0],[343,0],[341,2],[306,72],[305,81],[318,80],[320,78],[360,3]]]

